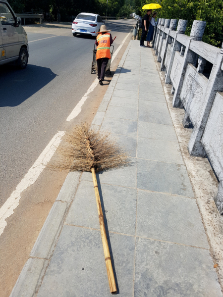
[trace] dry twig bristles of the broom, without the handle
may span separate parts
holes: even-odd
[[[116,143],[109,132],[99,131],[87,123],[77,125],[66,135],[65,144],[59,152],[62,160],[51,164],[51,168],[91,172],[94,167],[99,172],[130,164],[126,150]]]

